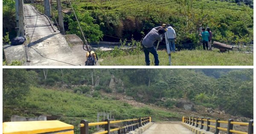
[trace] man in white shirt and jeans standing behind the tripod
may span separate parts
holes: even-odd
[[[175,39],[176,39],[175,30],[172,28],[172,26],[168,25],[166,33],[167,33],[167,38],[170,46],[170,51],[175,52]]]

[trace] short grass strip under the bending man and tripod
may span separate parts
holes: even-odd
[[[169,66],[169,57],[166,51],[157,51],[160,66]],[[151,66],[153,55],[149,54]],[[99,62],[102,66],[144,66],[145,55],[128,55],[120,57],[102,57]],[[246,54],[237,51],[230,53],[218,53],[204,50],[183,50],[172,53],[172,66],[253,66],[253,54]]]

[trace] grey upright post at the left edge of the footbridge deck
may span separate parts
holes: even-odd
[[[19,1],[19,6],[18,6],[18,8],[19,8],[19,13],[18,13],[18,15],[19,15],[19,31],[18,31],[18,36],[20,36],[20,37],[24,37],[24,23],[23,23],[23,21],[24,21],[24,13],[23,13],[23,0],[18,0]]]

